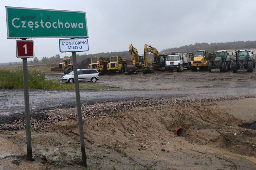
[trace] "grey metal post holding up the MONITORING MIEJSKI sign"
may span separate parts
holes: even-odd
[[[76,64],[76,54],[75,54],[75,52],[72,52],[72,60],[73,60],[73,70],[74,70],[74,79],[75,79],[75,96],[76,96],[76,103],[77,103],[77,114],[78,114],[78,124],[79,124],[79,135],[80,135],[82,160],[84,162],[85,167],[87,167],[86,153],[85,153],[85,139],[84,139],[84,130],[83,130],[81,101],[80,101],[80,93],[79,93],[79,85],[78,85],[78,75],[77,75],[77,64]]]

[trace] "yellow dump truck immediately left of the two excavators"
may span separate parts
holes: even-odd
[[[119,72],[122,74],[125,72],[126,59],[122,59],[120,56],[111,56],[109,63],[107,63],[107,74]]]

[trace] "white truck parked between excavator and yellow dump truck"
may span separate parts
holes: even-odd
[[[172,70],[182,72],[184,68],[191,69],[193,58],[193,53],[171,53],[166,57],[165,65],[169,72],[172,72]]]

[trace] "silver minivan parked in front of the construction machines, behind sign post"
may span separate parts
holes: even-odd
[[[78,69],[78,82],[91,81],[96,82],[100,79],[100,74],[96,69]],[[62,82],[74,83],[74,72],[64,75],[61,78]]]

